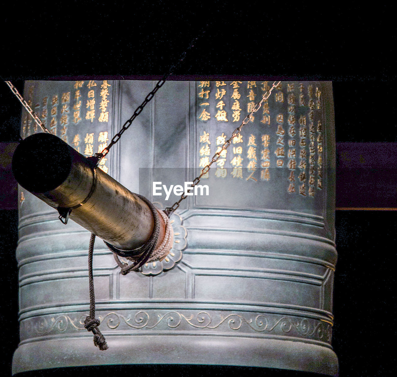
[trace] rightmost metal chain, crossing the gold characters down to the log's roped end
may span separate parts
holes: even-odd
[[[249,122],[249,120],[251,119],[252,114],[256,113],[256,111],[258,111],[260,109],[260,107],[262,106],[263,101],[266,101],[266,99],[268,99],[270,97],[270,94],[272,94],[272,90],[275,87],[277,87],[280,84],[280,82],[281,81],[275,81],[273,83],[272,87],[270,89],[268,89],[265,93],[263,93],[262,99],[255,105],[255,107],[254,107],[254,109],[252,109],[251,113],[249,113],[247,115],[247,117],[244,118],[243,122],[241,122],[241,125],[239,127],[237,127],[233,131],[233,134],[231,134],[230,138],[224,142],[224,144],[222,145],[221,149],[218,152],[216,152],[216,154],[214,154],[212,156],[211,162],[202,169],[201,174],[193,180],[193,185],[191,185],[191,187],[189,187],[189,188],[195,187],[200,182],[201,177],[204,174],[208,173],[208,171],[210,170],[211,165],[214,162],[218,161],[222,151],[224,151],[227,148],[229,148],[233,138],[235,138],[236,136],[238,136],[240,134],[241,128],[243,128],[243,126]],[[168,216],[170,216],[172,214],[172,212],[177,210],[179,208],[179,204],[181,203],[181,201],[186,199],[186,198],[187,198],[187,196],[182,194],[181,198],[177,202],[175,202],[171,207],[167,207],[165,212],[168,214]]]

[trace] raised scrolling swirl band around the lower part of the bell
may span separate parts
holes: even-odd
[[[52,331],[65,332],[67,328],[74,328],[75,330],[85,330],[84,319],[86,315],[82,315],[79,321],[71,319],[67,314],[58,315],[58,317],[39,317],[35,319],[23,321],[25,331],[32,328],[36,334],[48,334]],[[103,326],[110,330],[119,328],[125,324],[135,330],[148,328],[152,329],[160,326],[162,323],[170,329],[181,327],[187,324],[197,329],[214,329],[222,324],[233,330],[237,331],[243,328],[243,325],[248,325],[245,328],[251,328],[255,332],[274,332],[275,334],[289,334],[289,336],[299,336],[305,338],[312,338],[330,342],[332,337],[332,326],[328,322],[319,321],[316,319],[299,318],[282,316],[276,317],[274,315],[266,315],[264,313],[257,314],[255,317],[246,318],[244,315],[237,313],[230,313],[222,315],[219,313],[211,314],[207,311],[200,311],[197,315],[185,315],[178,311],[168,311],[165,314],[153,313],[149,314],[146,311],[137,311],[125,317],[121,313],[114,311],[107,313],[105,316],[98,315],[98,319]],[[225,330],[225,328],[224,328]]]

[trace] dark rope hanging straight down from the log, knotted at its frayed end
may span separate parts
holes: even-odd
[[[94,277],[93,277],[93,253],[94,253],[95,235],[91,233],[90,246],[88,251],[88,277],[90,286],[90,315],[85,318],[84,327],[94,334],[94,345],[101,351],[107,350],[108,344],[105,337],[100,332],[98,326],[100,325],[99,319],[95,318],[95,293],[94,293]]]

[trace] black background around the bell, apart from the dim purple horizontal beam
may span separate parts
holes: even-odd
[[[132,4],[132,5],[131,5]],[[395,31],[391,9],[320,3],[90,3],[71,8],[11,5],[4,11],[1,80],[156,79],[194,47],[170,80],[331,80],[336,142],[397,142]],[[324,4],[322,4],[324,6]],[[204,32],[203,32],[204,31]],[[160,89],[161,90],[161,89]],[[21,107],[0,82],[0,142],[17,142]],[[374,149],[376,154],[376,149]],[[385,164],[387,161],[385,161]],[[393,168],[393,166],[391,167]],[[395,168],[395,167],[394,167]],[[368,187],[367,190],[372,190]],[[360,196],[360,192],[357,192]],[[380,204],[382,206],[382,204]],[[394,375],[397,211],[337,211],[333,348],[340,376]],[[10,374],[17,347],[16,210],[0,211],[2,358]],[[222,366],[112,366],[35,371],[49,375],[175,376],[303,372]]]

